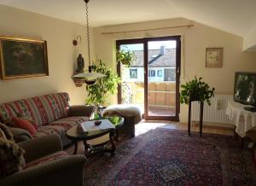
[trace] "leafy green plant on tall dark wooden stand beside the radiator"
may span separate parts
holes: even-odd
[[[210,98],[214,96],[215,88],[210,88],[210,86],[201,80],[202,78],[195,78],[186,84],[181,84],[180,92],[180,102],[189,104],[189,122],[188,131],[190,136],[190,122],[191,122],[191,102],[198,101],[201,102],[200,109],[200,135],[202,131],[202,120],[203,120],[203,107],[206,101],[208,105],[211,105]]]

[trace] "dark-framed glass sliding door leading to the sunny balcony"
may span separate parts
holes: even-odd
[[[178,120],[180,37],[117,41],[117,49],[131,50],[131,67],[118,64],[119,103],[137,104],[145,119]]]

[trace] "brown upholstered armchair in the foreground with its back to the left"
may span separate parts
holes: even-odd
[[[60,136],[36,137],[18,145],[26,152],[26,164],[21,171],[0,178],[0,185],[83,185],[86,158],[63,151]]]

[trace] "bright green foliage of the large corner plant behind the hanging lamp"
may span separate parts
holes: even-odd
[[[88,98],[85,102],[87,104],[95,104],[96,106],[99,106],[106,103],[109,96],[117,92],[120,78],[111,68],[106,67],[106,64],[102,62],[102,60],[97,60],[96,63],[91,65],[91,70],[96,73],[105,74],[106,77],[99,78],[96,81],[96,84],[86,86]]]

